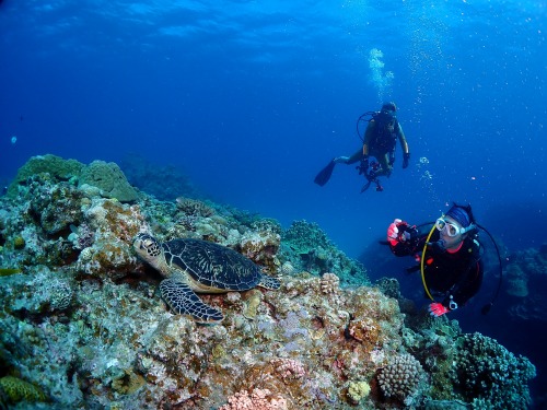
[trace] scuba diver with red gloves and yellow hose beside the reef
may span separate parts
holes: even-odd
[[[464,306],[481,286],[482,245],[478,241],[481,226],[476,223],[470,206],[456,203],[435,221],[429,233],[420,231],[423,226],[411,226],[396,219],[387,229],[387,244],[395,256],[416,256],[419,265],[408,271],[421,270],[426,294],[433,301],[429,313],[439,317]],[[433,295],[439,296],[440,302]],[[497,295],[482,308],[484,314]]]

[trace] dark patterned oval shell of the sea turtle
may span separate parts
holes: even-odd
[[[260,268],[225,246],[201,239],[172,239],[162,244],[165,262],[197,282],[229,291],[246,291],[261,280]]]

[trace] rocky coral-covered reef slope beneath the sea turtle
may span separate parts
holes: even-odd
[[[135,236],[231,247],[277,291],[173,315]],[[534,365],[372,284],[314,223],[160,201],[116,164],[31,159],[0,198],[0,408],[526,409]],[[523,292],[515,291],[515,292]]]

